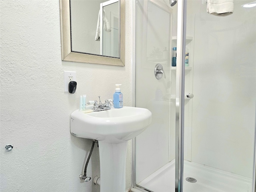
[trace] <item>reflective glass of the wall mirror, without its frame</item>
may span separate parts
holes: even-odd
[[[118,0],[70,0],[71,51],[120,58]]]

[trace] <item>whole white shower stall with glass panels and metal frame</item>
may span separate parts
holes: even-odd
[[[134,106],[152,112],[133,140],[134,191],[255,192],[251,2],[215,16],[205,0],[132,1]]]

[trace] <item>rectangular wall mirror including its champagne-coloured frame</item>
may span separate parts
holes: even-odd
[[[60,0],[62,60],[124,66],[124,0]]]

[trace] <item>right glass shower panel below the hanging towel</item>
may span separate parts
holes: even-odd
[[[194,97],[185,97],[183,191],[252,191],[256,7],[242,7],[249,2],[214,16],[206,2],[187,1],[185,93]]]

